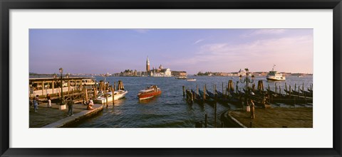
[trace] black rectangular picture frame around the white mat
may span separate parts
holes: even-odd
[[[1,156],[341,156],[341,0],[0,0]],[[9,148],[10,9],[333,9],[333,148]],[[24,139],[23,139],[24,140]]]

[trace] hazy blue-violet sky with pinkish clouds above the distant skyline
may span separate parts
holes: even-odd
[[[313,29],[30,29],[29,71],[313,73]]]

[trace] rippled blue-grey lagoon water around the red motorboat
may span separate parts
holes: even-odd
[[[207,90],[212,91],[214,84],[217,90],[222,92],[222,82],[224,87],[227,86],[229,80],[233,80],[234,88],[239,77],[192,77],[195,82],[187,80],[177,80],[175,77],[106,77],[106,80],[113,85],[113,82],[122,80],[125,90],[128,90],[125,99],[115,101],[115,107],[105,107],[103,112],[81,121],[80,123],[71,127],[80,128],[193,128],[195,122],[204,121],[204,115],[208,115],[208,125],[214,125],[214,107],[204,104],[204,107],[199,104],[187,104],[182,97],[182,86],[185,85],[187,89],[203,90],[204,84],[207,85]],[[97,81],[103,80],[103,77],[96,77]],[[264,88],[269,85],[271,90],[274,90],[275,82],[266,81],[265,77],[255,77],[255,84],[257,88],[258,80],[264,80]],[[285,82],[286,85],[291,85],[294,89],[296,84],[302,86],[304,83],[304,90],[312,84],[312,76],[304,77],[286,77],[286,81],[276,82],[279,89],[281,87],[284,93]],[[162,94],[150,100],[140,102],[138,99],[138,92],[150,85],[157,85],[162,90]],[[239,89],[246,83],[239,83]],[[252,85],[252,84],[251,84]],[[289,90],[289,89],[288,89]],[[297,88],[298,90],[298,88]],[[230,109],[237,109],[234,105],[229,105]],[[310,105],[278,105],[276,107],[310,107]],[[312,107],[312,105],[311,105]],[[219,117],[226,112],[229,107],[224,107],[217,104],[217,124],[219,126]]]

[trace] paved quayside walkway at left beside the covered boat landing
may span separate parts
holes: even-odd
[[[87,110],[87,106],[83,104],[73,104],[73,116],[68,117],[68,107],[66,109],[58,109],[58,104],[51,104],[51,108],[46,103],[38,106],[38,112],[33,111],[30,107],[29,127],[30,128],[58,128],[76,123],[86,117],[98,114],[103,110],[102,104],[94,104],[92,110]]]

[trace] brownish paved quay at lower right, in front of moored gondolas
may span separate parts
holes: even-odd
[[[225,112],[225,127],[240,128],[312,128],[313,108],[255,108],[255,119],[250,118],[251,113],[237,110]]]

